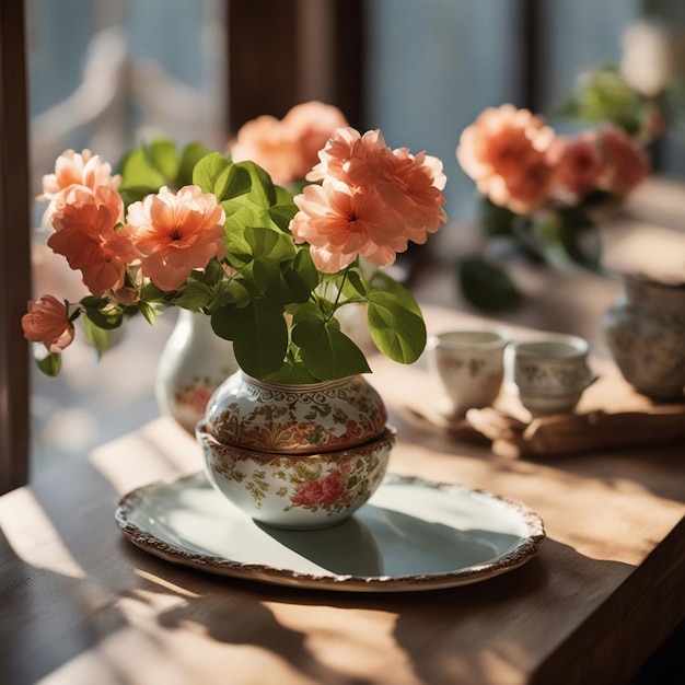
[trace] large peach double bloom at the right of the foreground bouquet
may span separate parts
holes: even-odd
[[[362,136],[348,127],[337,129],[318,156],[306,178],[323,184],[294,198],[300,211],[290,230],[295,243],[310,243],[320,271],[335,274],[358,255],[388,266],[408,241],[425,243],[446,221],[437,158],[391,150],[379,130]]]

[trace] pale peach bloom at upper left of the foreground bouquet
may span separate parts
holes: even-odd
[[[66,150],[55,162],[55,173],[43,176],[43,194],[36,197],[39,201],[49,200],[44,221],[55,213],[66,190],[73,185],[84,186],[94,190],[98,186],[107,186],[115,190],[121,177],[112,175],[112,165],[98,154],[84,149],[81,152]]]

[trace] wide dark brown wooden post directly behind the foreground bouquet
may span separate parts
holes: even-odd
[[[231,2],[228,35],[232,133],[306,100],[336,105],[364,127],[364,0]]]

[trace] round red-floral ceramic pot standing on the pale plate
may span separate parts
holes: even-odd
[[[395,431],[361,375],[269,384],[237,371],[196,434],[209,481],[252,519],[321,529],[357,511],[381,484]]]

